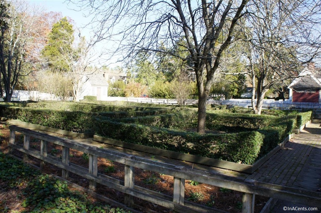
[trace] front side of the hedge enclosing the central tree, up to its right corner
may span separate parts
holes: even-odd
[[[98,127],[95,133],[104,137],[244,164],[252,164],[256,161],[264,139],[264,135],[257,131],[201,135],[194,132],[120,123],[104,117],[97,117],[95,126]]]

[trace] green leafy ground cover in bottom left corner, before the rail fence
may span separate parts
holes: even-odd
[[[70,190],[67,182],[41,174],[38,170],[2,152],[0,152],[0,180],[0,212],[3,213],[127,212],[108,204],[91,201],[86,194]],[[14,201],[6,196],[13,192],[16,195]]]

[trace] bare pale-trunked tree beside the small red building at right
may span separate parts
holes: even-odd
[[[302,65],[320,60],[321,4],[313,0],[260,0],[247,9],[250,16],[242,30],[244,51],[253,85],[253,111],[261,114],[271,88],[289,85]]]

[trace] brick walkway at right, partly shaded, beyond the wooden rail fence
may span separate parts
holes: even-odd
[[[321,188],[321,125],[309,124],[285,146],[247,178],[311,191]],[[283,207],[306,207],[278,201],[271,212],[321,212],[289,211]]]

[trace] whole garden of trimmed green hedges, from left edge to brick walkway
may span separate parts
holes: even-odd
[[[25,106],[35,106],[32,104],[27,103]],[[38,107],[44,108],[47,104],[36,103]],[[184,107],[123,107],[70,102],[63,103],[59,109],[62,108],[65,110],[3,105],[0,106],[0,115],[67,131],[83,133],[94,130],[101,136],[129,143],[245,164],[252,164],[271,151],[293,128],[311,117],[311,112],[258,116],[217,110],[215,112],[218,113],[207,113],[206,128],[222,130],[236,126],[252,129],[232,134],[200,135],[183,130],[197,126],[197,112]]]

